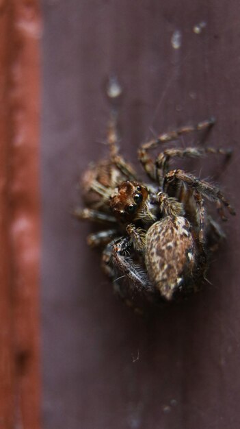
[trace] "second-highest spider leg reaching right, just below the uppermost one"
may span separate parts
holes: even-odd
[[[162,181],[164,175],[168,171],[168,165],[172,158],[202,158],[206,154],[221,154],[230,158],[232,149],[215,149],[214,147],[186,147],[165,149],[157,156],[156,174],[158,181]]]

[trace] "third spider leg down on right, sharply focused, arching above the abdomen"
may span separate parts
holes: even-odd
[[[226,200],[222,192],[219,191],[219,188],[206,182],[205,180],[198,179],[191,173],[185,173],[185,171],[183,170],[172,170],[165,175],[163,182],[164,191],[168,188],[169,184],[178,184],[178,182],[183,182],[187,184],[187,186],[189,186],[192,191],[199,193],[201,197],[205,197],[206,199],[209,199],[209,201],[215,201],[219,208],[219,215],[222,217],[223,220],[226,219],[223,217],[223,207],[226,207],[228,209],[230,215],[235,215],[234,208],[230,206],[230,203],[228,202],[228,200]]]

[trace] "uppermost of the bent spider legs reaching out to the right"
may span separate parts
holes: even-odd
[[[176,128],[176,130],[160,134],[157,138],[152,139],[147,143],[144,143],[138,151],[138,158],[150,179],[156,179],[156,171],[155,162],[148,154],[148,150],[156,149],[161,143],[168,143],[170,141],[177,140],[180,136],[183,136],[184,134],[189,134],[191,132],[202,130],[210,130],[214,123],[215,119],[207,119],[206,121],[199,122],[196,125],[186,125],[183,127]]]

